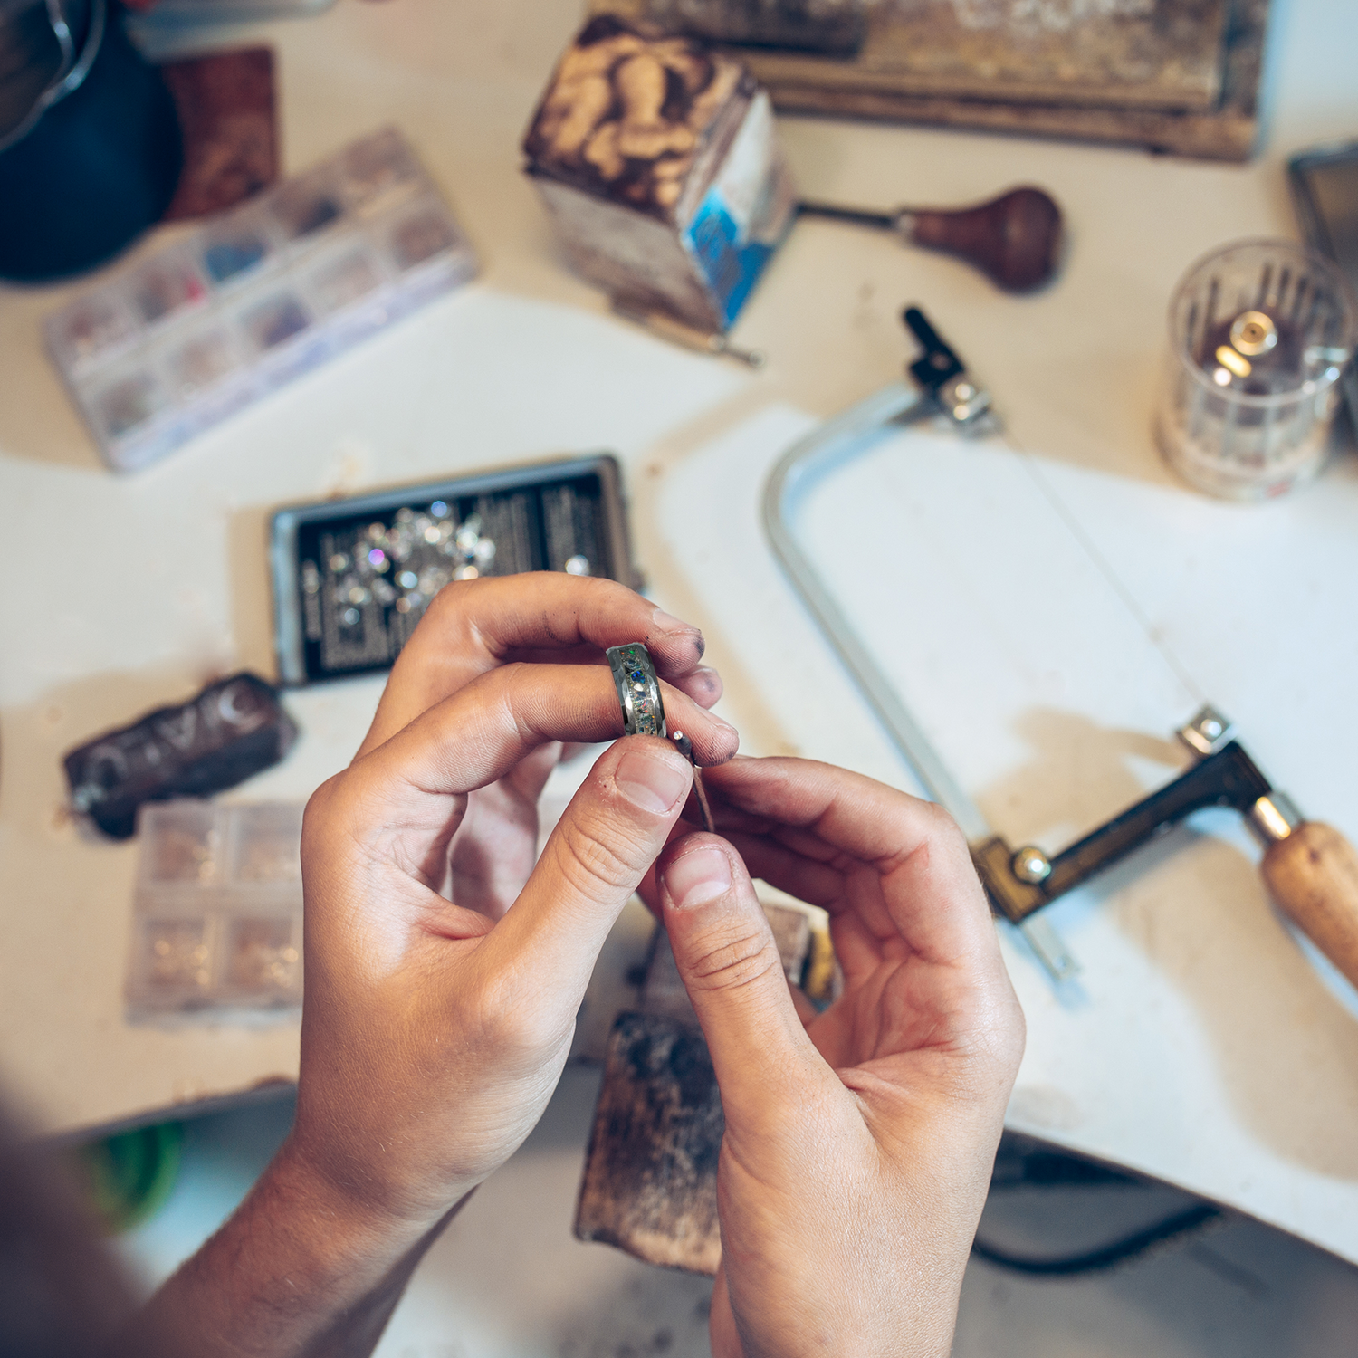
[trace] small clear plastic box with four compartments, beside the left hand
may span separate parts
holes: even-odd
[[[128,1012],[262,1014],[301,1004],[301,805],[143,807]]]

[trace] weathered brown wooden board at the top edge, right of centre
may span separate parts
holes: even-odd
[[[645,20],[675,3],[592,0],[592,10]],[[1067,24],[1061,7],[997,4],[999,22],[976,29],[966,11],[978,5],[881,0],[869,8],[865,41],[849,60],[756,48],[740,56],[784,113],[1248,160],[1259,133],[1268,5],[1143,0],[1139,12],[1128,7],[1122,15],[1111,5],[1067,5],[1066,16],[1076,19]],[[1033,26],[1043,31],[1033,34]],[[899,191],[917,197],[904,182]]]

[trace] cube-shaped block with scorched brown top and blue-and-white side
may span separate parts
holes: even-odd
[[[614,15],[561,58],[523,149],[576,272],[705,333],[735,320],[793,220],[773,105],[744,68]]]

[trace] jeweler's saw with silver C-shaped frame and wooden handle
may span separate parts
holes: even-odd
[[[790,528],[793,500],[820,474],[842,466],[887,425],[940,418],[959,433],[998,425],[990,397],[918,308],[904,312],[923,353],[913,383],[885,387],[784,454],[765,488],[763,520],[774,555],[919,781],[956,819],[998,914],[1023,930],[1054,980],[1078,964],[1039,911],[1206,807],[1232,807],[1263,839],[1262,873],[1275,900],[1331,963],[1358,987],[1358,856],[1335,830],[1302,820],[1205,708],[1180,731],[1199,756],[1187,773],[1090,831],[1059,854],[1014,849],[997,835],[938,756],[896,686],[854,631]]]

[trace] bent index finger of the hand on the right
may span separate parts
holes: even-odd
[[[892,926],[921,957],[936,963],[991,952],[998,957],[967,841],[936,803],[809,759],[737,758],[703,770],[703,778],[741,811],[812,835],[870,866],[881,876]],[[779,857],[770,862],[775,875]],[[781,866],[786,869],[786,861]],[[790,877],[767,880],[796,895]]]

